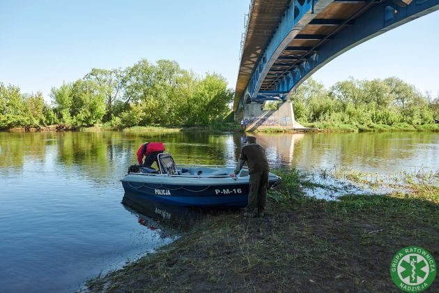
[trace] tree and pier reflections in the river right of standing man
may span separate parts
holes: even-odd
[[[398,168],[403,169],[401,162],[419,156],[422,144],[434,144],[435,139],[438,140],[435,133],[283,133],[257,134],[256,137],[272,167],[362,165],[379,168],[399,164]],[[239,151],[237,147],[236,159]],[[433,151],[424,153],[425,159],[418,165],[429,163],[427,158],[433,156]]]

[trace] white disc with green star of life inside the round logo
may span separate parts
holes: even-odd
[[[429,276],[427,261],[422,255],[411,253],[398,264],[398,276],[407,285],[419,285]]]

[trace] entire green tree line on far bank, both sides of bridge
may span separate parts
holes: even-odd
[[[200,77],[176,61],[143,59],[125,69],[93,68],[75,82],[53,87],[50,104],[40,92],[21,93],[0,82],[0,129],[100,123],[111,128],[208,126],[229,113],[233,94],[222,75]],[[330,89],[310,78],[292,98],[301,123],[416,126],[439,119],[439,98],[396,77],[351,77]]]

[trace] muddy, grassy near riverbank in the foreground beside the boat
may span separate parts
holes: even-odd
[[[337,174],[370,183],[358,172]],[[157,253],[89,280],[88,290],[396,291],[390,261],[398,250],[421,246],[439,260],[437,173],[387,182],[388,195],[330,202],[305,196],[304,188],[324,186],[300,172],[281,175],[265,218],[210,215]]]

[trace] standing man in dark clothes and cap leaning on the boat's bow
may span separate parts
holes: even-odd
[[[265,150],[259,144],[256,144],[256,137],[247,137],[235,172],[230,174],[230,176],[236,177],[236,174],[240,172],[245,162],[249,166],[250,179],[249,202],[244,216],[254,218],[257,207],[257,216],[262,218],[265,205],[267,204],[268,171],[270,167],[268,167]]]

